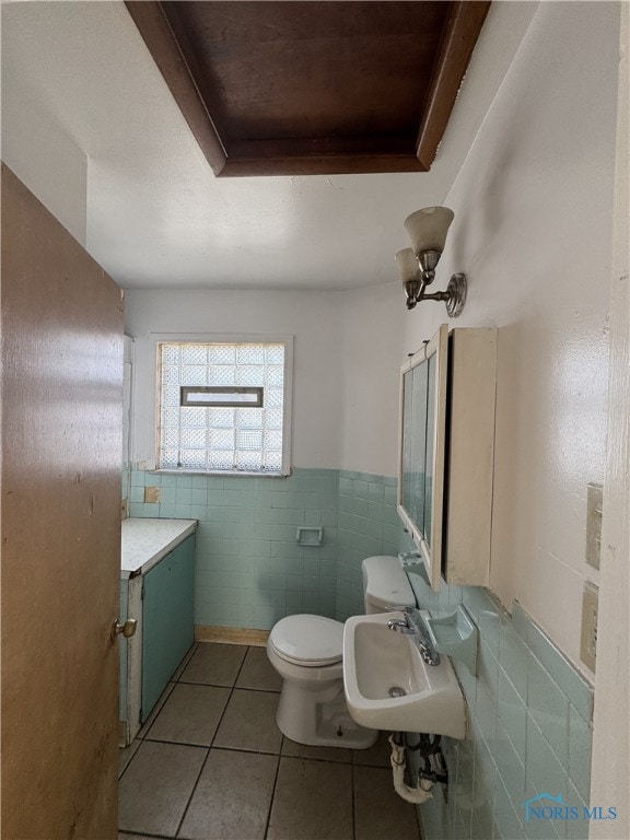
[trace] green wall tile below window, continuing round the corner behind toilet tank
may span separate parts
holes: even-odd
[[[145,489],[159,502],[147,503]],[[396,481],[295,468],[288,478],[174,476],[130,470],[131,516],[196,518],[195,623],[270,629],[316,612],[363,611],[361,560],[396,553]],[[322,526],[322,546],[296,545]]]

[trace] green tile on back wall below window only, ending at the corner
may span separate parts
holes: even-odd
[[[336,615],[338,470],[289,478],[131,471],[131,516],[199,521],[195,623],[270,629],[293,612]],[[144,503],[145,487],[160,501]],[[322,546],[296,545],[299,525]]]

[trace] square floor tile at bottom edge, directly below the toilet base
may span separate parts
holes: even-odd
[[[269,840],[351,840],[352,768],[280,759]]]

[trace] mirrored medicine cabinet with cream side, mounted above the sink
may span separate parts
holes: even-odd
[[[497,330],[447,325],[400,371],[398,514],[431,587],[487,586]]]

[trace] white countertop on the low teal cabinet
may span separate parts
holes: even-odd
[[[195,533],[197,520],[122,520],[120,576],[148,572],[186,537]]]

